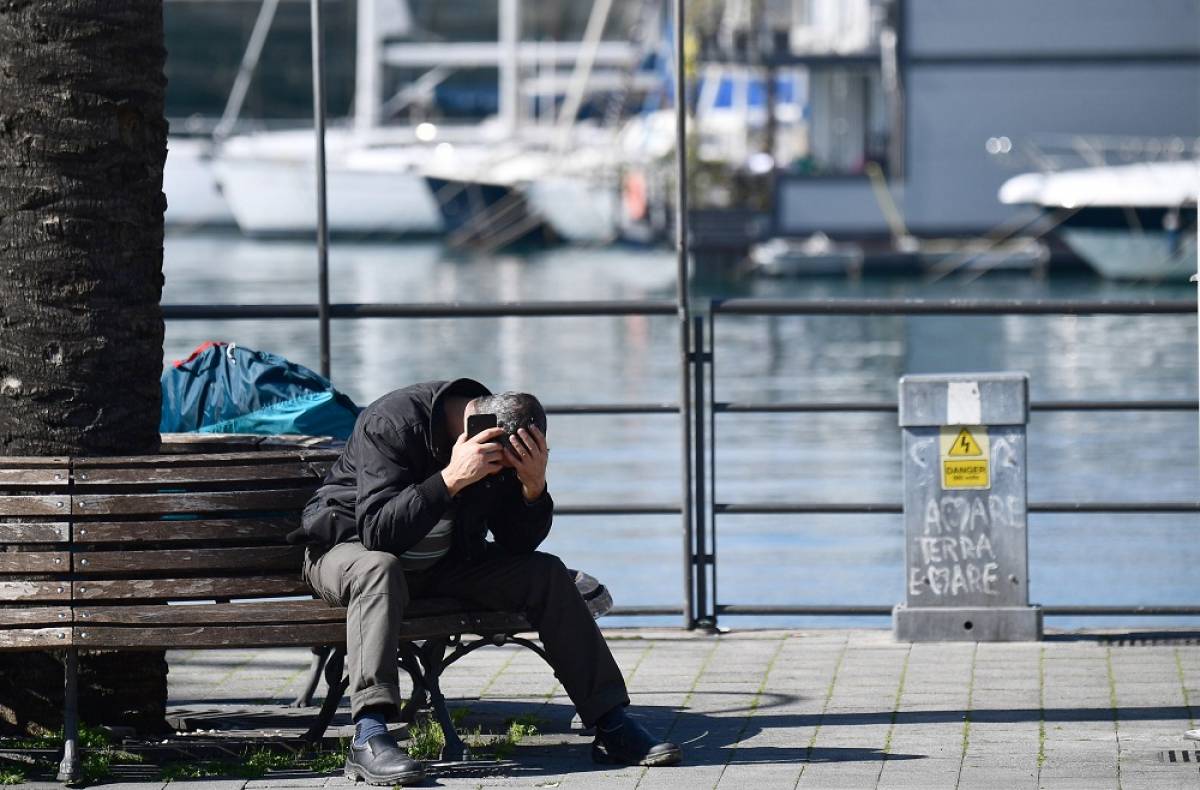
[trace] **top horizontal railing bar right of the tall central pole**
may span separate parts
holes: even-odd
[[[1194,313],[1194,299],[714,299],[714,313],[742,316],[1128,316]]]

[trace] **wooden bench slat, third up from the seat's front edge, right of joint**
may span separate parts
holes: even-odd
[[[299,571],[228,579],[116,579],[74,583],[74,600],[211,600],[310,596]]]

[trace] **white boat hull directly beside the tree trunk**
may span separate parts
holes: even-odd
[[[212,173],[212,142],[208,138],[167,138],[162,191],[167,194],[163,220],[168,226],[234,223]]]

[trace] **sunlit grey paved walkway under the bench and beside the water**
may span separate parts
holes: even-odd
[[[1200,743],[1182,737],[1200,716],[1194,634],[977,646],[896,644],[882,630],[618,629],[610,640],[634,710],[684,746],[685,765],[593,766],[590,740],[550,670],[528,651],[490,647],[448,670],[451,708],[467,708],[464,729],[485,732],[532,716],[539,735],[510,764],[448,771],[425,786],[1200,788]],[[226,735],[295,734],[311,713],[277,704],[299,690],[306,664],[296,650],[173,653],[172,710],[184,724]],[[348,783],[293,772],[172,786],[192,784]]]

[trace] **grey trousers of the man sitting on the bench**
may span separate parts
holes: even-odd
[[[397,634],[408,602],[425,597],[524,612],[586,726],[629,704],[608,645],[566,567],[553,555],[510,555],[492,546],[472,562],[443,561],[426,571],[406,573],[390,552],[343,543],[316,557],[310,551],[304,573],[326,603],[347,608],[346,672],[355,718],[368,707],[398,716],[404,698]]]

